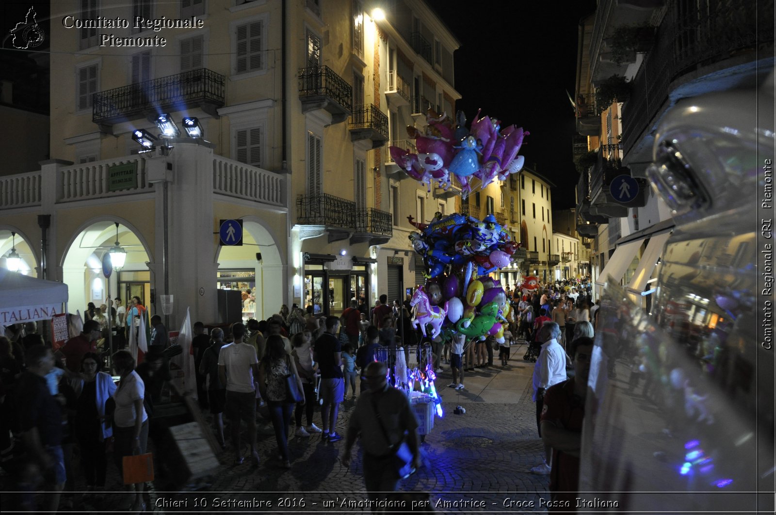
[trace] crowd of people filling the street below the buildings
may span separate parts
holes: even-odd
[[[558,453],[563,456],[569,450],[551,444],[553,429],[545,427],[553,422],[542,407],[551,398],[551,387],[566,380],[566,366],[580,355],[587,356],[579,354],[578,344],[572,342],[593,336],[595,310],[589,296],[563,285],[546,285],[532,296],[515,288],[508,291],[508,299],[513,309],[501,343],[495,337],[480,340],[460,334],[447,341],[423,337],[412,326],[408,299],[389,304],[385,295],[369,310],[354,299],[341,316],[318,316],[313,306],[301,309],[295,304],[290,309],[281,306],[267,320],[239,321],[210,330],[197,322],[192,350],[199,406],[209,413],[218,443],[223,450],[231,449],[236,464],[248,459],[260,465],[257,416],[271,420],[277,443],[272,465],[289,468],[293,459],[289,435],[319,435],[331,443],[342,440],[337,430],[339,410],[345,401],[358,399],[354,403],[360,406],[354,412],[358,416],[351,417],[346,431],[343,462],[349,461],[350,448],[361,436],[365,482],[368,491],[375,493],[396,487],[397,478],[385,475],[386,445],[390,448],[404,441],[403,436],[414,434],[417,427],[414,417],[407,416],[408,406],[392,393],[382,393],[390,389],[386,375],[391,372],[386,364],[371,365],[381,347],[428,345],[435,371],[450,365],[448,386],[464,389],[465,371],[494,366],[494,351],[499,351],[501,366],[507,366],[510,347],[533,343],[541,346],[534,380],[537,423],[550,437],[545,436],[545,461],[532,472],[547,474],[553,463],[563,463]],[[13,471],[9,477],[23,493],[20,509],[33,510],[36,503],[45,502],[54,511],[59,493],[73,491],[76,482],[99,493],[105,487],[110,455],[122,473],[123,457],[144,454],[149,434],[154,440],[154,406],[162,392],[185,395],[171,384],[165,357],[168,332],[161,317],[151,317],[149,351],[137,365],[126,350],[126,336],[137,331],[146,308],[137,297],[126,309],[121,304],[118,299],[110,310],[105,305],[88,306],[81,334],[56,352],[50,342],[43,342],[35,323],[10,327],[0,337],[2,467]],[[118,349],[112,355],[106,345],[107,331],[113,331],[113,349]],[[289,398],[289,377],[301,400]],[[388,417],[393,425],[387,436],[379,437],[381,431],[376,432],[374,421],[369,421],[370,413],[380,413],[376,402],[383,403],[379,410],[402,417],[401,423]],[[241,438],[247,438],[246,448]],[[411,447],[419,463],[418,446]],[[375,454],[369,455],[372,450]],[[143,483],[127,486],[130,510],[144,510],[143,487]],[[37,489],[47,492],[45,499],[33,496]],[[66,504],[72,502],[72,496],[65,499]]]

